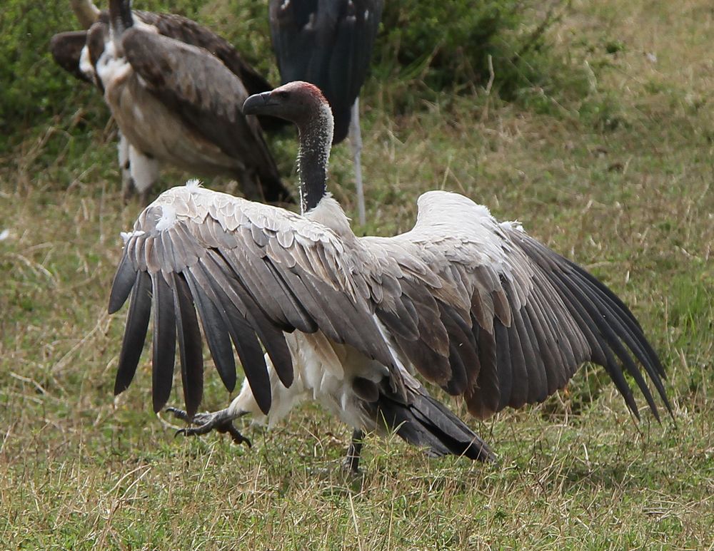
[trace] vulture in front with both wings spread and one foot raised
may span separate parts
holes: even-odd
[[[193,423],[185,433],[241,441],[233,419],[272,424],[314,399],[355,431],[350,468],[364,431],[396,431],[433,455],[493,458],[418,375],[485,418],[543,401],[592,361],[635,416],[623,370],[655,416],[645,376],[670,410],[638,321],[582,268],[451,192],[423,194],[409,232],[356,237],[326,192],[332,115],[317,88],[289,83],[243,108],[298,125],[303,214],[195,183],[144,210],[124,236],[110,297],[116,311],[131,294],[115,392],[134,377],[153,308],[155,411],[169,398],[178,338],[186,411],[171,411]],[[228,408],[196,415],[199,320],[226,387],[236,383],[231,343],[246,380]]]

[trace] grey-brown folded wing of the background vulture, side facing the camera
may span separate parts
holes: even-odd
[[[121,43],[127,61],[156,97],[224,153],[252,165],[264,190],[289,197],[258,121],[241,111],[245,86],[218,58],[135,27],[124,31]]]

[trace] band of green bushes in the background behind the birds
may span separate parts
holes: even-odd
[[[166,11],[161,0],[136,9]],[[587,91],[580,67],[550,53],[547,33],[558,25],[564,0],[387,1],[373,58],[373,84],[383,86],[396,112],[419,108],[442,93],[487,88],[506,101],[528,101],[567,89]],[[100,7],[104,7],[101,6]],[[201,21],[234,43],[271,81],[278,73],[271,51],[265,1],[178,0],[170,10]],[[16,147],[48,125],[74,137],[104,128],[107,110],[90,86],[77,86],[48,51],[59,31],[78,29],[69,0],[5,0],[0,7],[0,150]],[[568,78],[569,86],[558,86]],[[549,102],[546,101],[545,104]],[[77,108],[81,105],[81,108]],[[56,155],[55,148],[46,153]]]

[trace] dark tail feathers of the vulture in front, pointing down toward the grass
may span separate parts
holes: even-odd
[[[378,416],[388,428],[408,443],[428,448],[431,455],[463,455],[484,462],[496,460],[478,434],[429,396],[426,388],[410,392],[409,401],[411,403],[405,404],[380,393],[373,406],[378,408]]]

